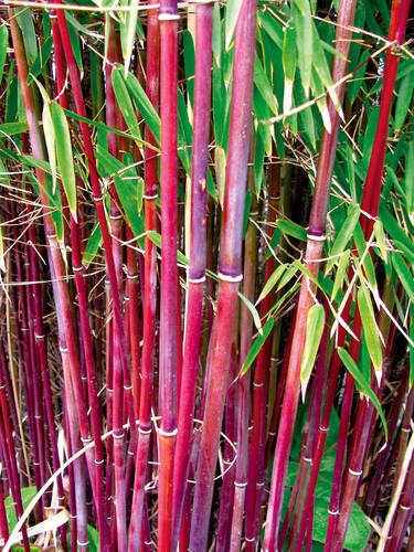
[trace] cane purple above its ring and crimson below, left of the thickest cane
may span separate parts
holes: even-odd
[[[178,435],[173,474],[173,548],[177,545],[190,459],[195,385],[202,330],[206,263],[206,179],[210,129],[213,6],[197,7],[193,149],[191,172],[190,266],[183,368],[180,384]]]

